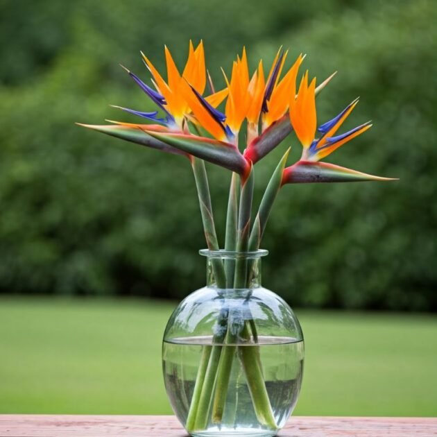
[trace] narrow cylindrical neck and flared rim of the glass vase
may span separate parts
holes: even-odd
[[[232,252],[200,250],[207,257],[207,286],[217,289],[255,289],[261,286],[261,259],[267,250]]]

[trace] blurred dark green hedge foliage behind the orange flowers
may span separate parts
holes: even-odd
[[[0,2],[0,291],[182,298],[204,282],[205,243],[181,157],[87,132],[74,121],[149,110],[119,68],[148,77],[203,38],[216,83],[246,45],[277,47],[323,80],[320,121],[356,96],[375,126],[327,161],[399,182],[286,187],[268,225],[264,283],[292,305],[436,310],[437,8],[432,0]],[[133,119],[132,119],[133,120]],[[286,140],[298,157],[295,137]],[[284,151],[257,165],[257,200]],[[216,221],[230,174],[208,166]]]

